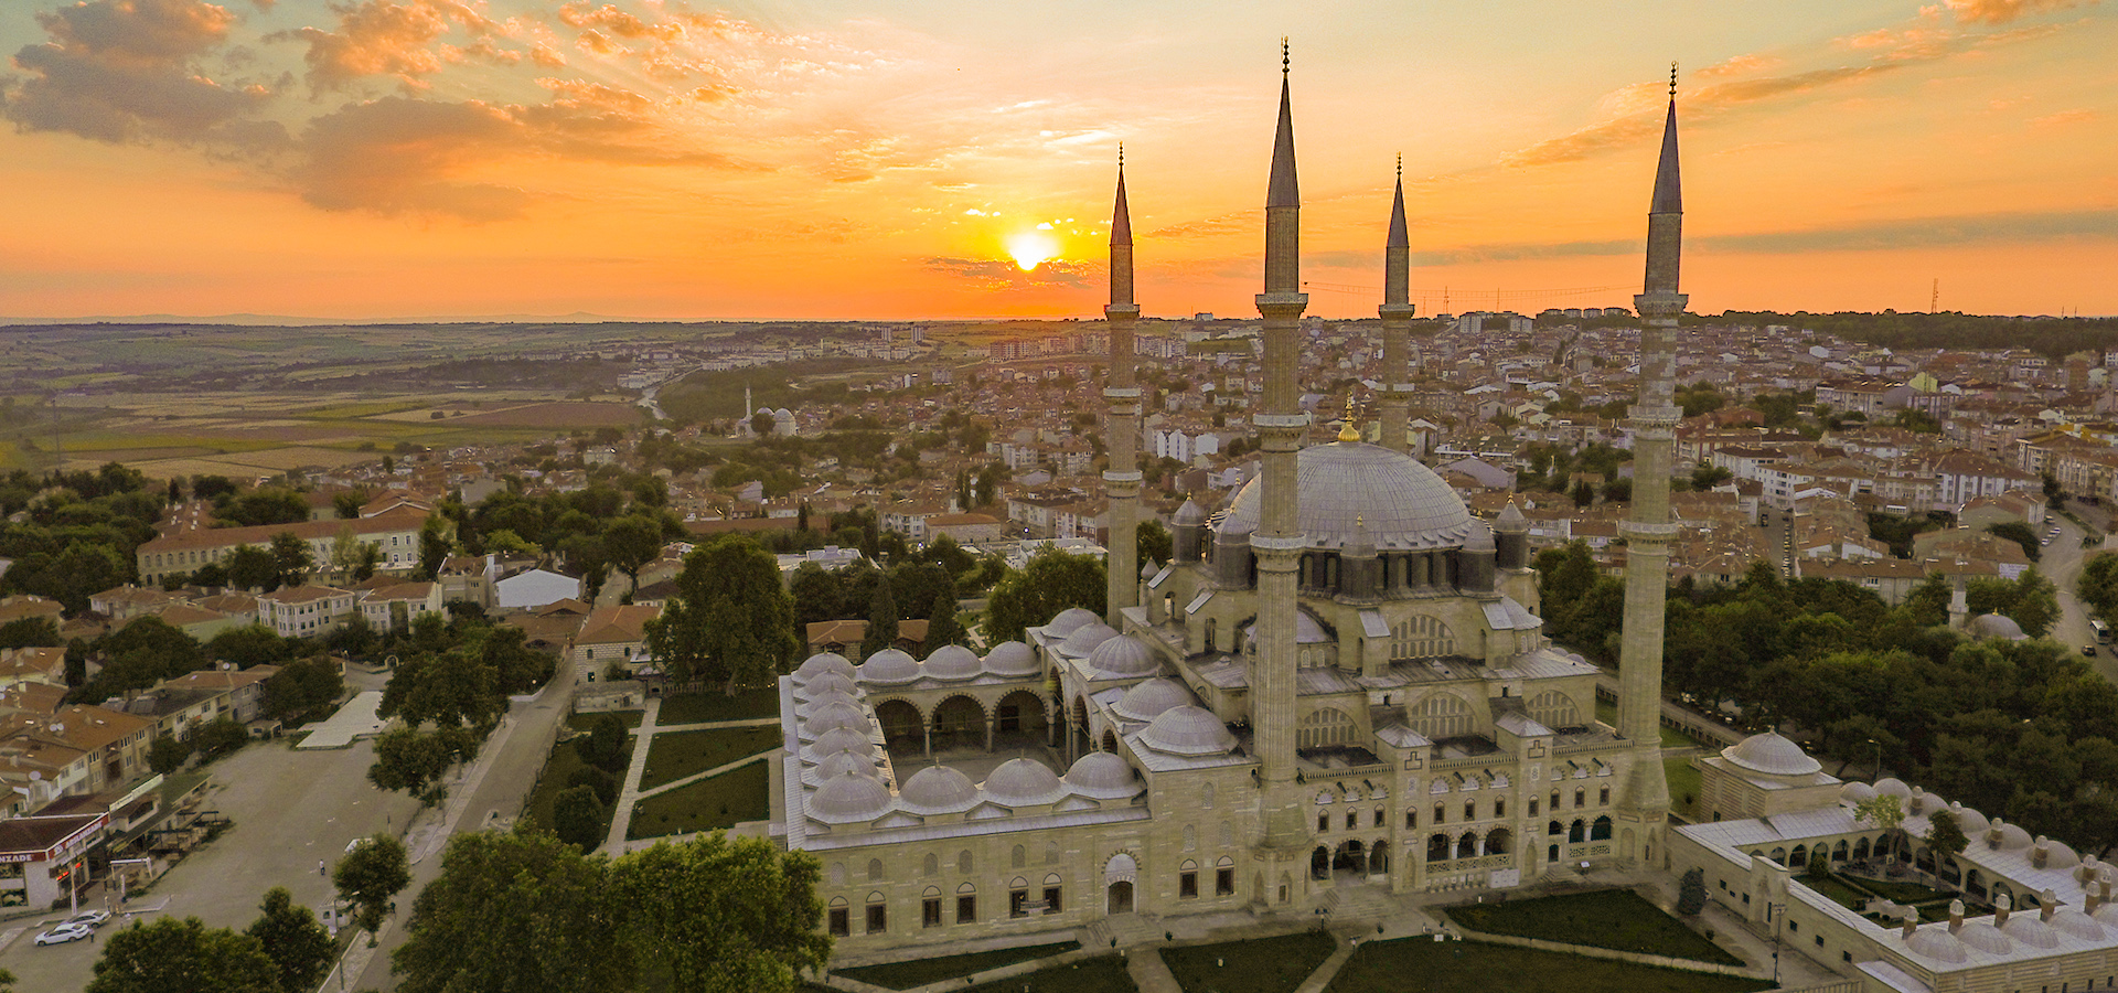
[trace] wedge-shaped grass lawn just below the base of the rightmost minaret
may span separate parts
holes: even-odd
[[[1722,965],[1743,963],[1743,959],[1720,951],[1720,946],[1684,927],[1682,921],[1641,900],[1631,889],[1597,889],[1593,893],[1451,906],[1447,915],[1464,927],[1487,934],[1544,938],[1548,942],[1637,951]]]

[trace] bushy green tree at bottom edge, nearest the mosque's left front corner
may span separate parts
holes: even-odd
[[[716,830],[621,855],[610,874],[640,959],[667,963],[676,989],[788,993],[830,957],[820,868],[807,851]]]

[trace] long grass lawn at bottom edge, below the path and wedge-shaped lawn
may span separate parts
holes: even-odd
[[[1771,980],[1483,942],[1362,942],[1330,993],[1749,993]]]

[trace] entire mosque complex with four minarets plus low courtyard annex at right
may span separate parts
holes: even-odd
[[[2071,993],[2118,985],[2112,870],[1953,807],[1972,847],[1936,866],[1993,919],[1921,925],[1798,883],[1832,862],[1934,855],[1951,809],[1896,779],[1841,783],[1756,735],[1701,762],[1709,824],[1669,826],[1661,747],[1663,601],[1675,396],[1682,188],[1675,76],[1650,210],[1618,722],[1597,669],[1550,646],[1514,506],[1491,523],[1406,453],[1411,383],[1404,186],[1379,307],[1379,445],[1303,445],[1294,119],[1286,72],[1258,296],[1260,472],[1222,510],[1186,504],[1169,563],[1108,559],[1108,610],[1067,610],[983,658],[818,654],[779,680],[784,758],[771,830],[824,864],[841,955],[1101,927],[1131,915],[1381,919],[1603,866],[1697,870],[1707,898],[1862,991]],[[1110,534],[1139,517],[1133,239],[1123,163],[1110,229]],[[1896,794],[1902,830],[1853,802]],[[1726,819],[1724,819],[1726,817]],[[2010,919],[2010,906],[2016,913]],[[2031,910],[2035,908],[2035,910]],[[1161,929],[1154,929],[1156,936]],[[1987,934],[1991,932],[1991,934]]]

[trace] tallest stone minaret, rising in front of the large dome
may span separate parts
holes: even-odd
[[[1294,182],[1288,70],[1281,42],[1279,131],[1273,136],[1273,178],[1264,191],[1264,292],[1258,294],[1258,313],[1264,318],[1264,402],[1252,415],[1262,451],[1262,508],[1258,529],[1250,536],[1258,559],[1258,654],[1250,665],[1250,728],[1262,764],[1264,847],[1284,853],[1309,838],[1294,796],[1294,574],[1307,544],[1294,510],[1294,449],[1309,426],[1296,400],[1294,360],[1309,296],[1300,292],[1303,207]]]

